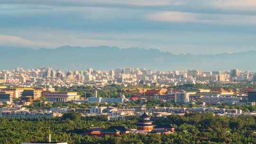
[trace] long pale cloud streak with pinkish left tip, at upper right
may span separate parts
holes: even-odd
[[[159,11],[146,15],[153,21],[164,22],[191,22],[224,25],[255,25],[256,16],[237,14],[202,14],[176,11]]]

